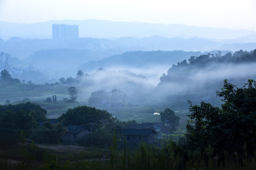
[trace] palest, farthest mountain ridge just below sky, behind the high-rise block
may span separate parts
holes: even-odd
[[[234,39],[240,36],[256,34],[255,31],[233,30],[228,28],[212,28],[185,26],[181,24],[151,24],[140,22],[113,22],[109,20],[51,20],[33,24],[18,24],[0,21],[1,38],[19,36],[27,38],[51,38],[52,24],[79,25],[80,37],[199,37],[208,39]]]

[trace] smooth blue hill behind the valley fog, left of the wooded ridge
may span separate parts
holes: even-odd
[[[217,51],[212,51],[217,52]],[[223,51],[227,53],[228,51]],[[83,64],[80,69],[89,71],[98,68],[154,68],[158,65],[172,65],[190,56],[200,56],[201,51],[129,51],[108,58]]]

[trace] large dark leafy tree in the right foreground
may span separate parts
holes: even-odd
[[[242,155],[246,144],[247,151],[253,155],[256,150],[256,82],[248,80],[238,88],[224,80],[223,88],[216,93],[224,102],[221,108],[205,102],[193,106],[190,102],[188,117],[191,120],[185,134],[187,147],[203,151],[211,145],[214,154],[223,156],[224,152]]]

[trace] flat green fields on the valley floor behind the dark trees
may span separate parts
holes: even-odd
[[[11,104],[22,102],[24,98],[29,98],[30,102],[40,105],[47,110],[47,117],[50,119],[58,118],[65,113],[67,109],[72,109],[80,105],[87,105],[87,101],[93,89],[90,87],[77,87],[78,99],[77,102],[67,103],[63,98],[69,98],[67,89],[71,85],[27,85],[27,84],[13,84],[0,83],[0,104],[4,104],[6,100],[10,100]],[[57,102],[44,102],[47,97],[53,95],[57,96]],[[136,120],[141,122],[159,122],[160,116],[154,115],[155,112],[161,113],[166,108],[152,107],[137,103],[136,105],[125,105],[118,107],[99,107],[97,109],[107,110],[119,120]],[[173,109],[173,108],[170,108]],[[180,127],[182,129],[186,124],[186,110],[174,110],[180,119]]]

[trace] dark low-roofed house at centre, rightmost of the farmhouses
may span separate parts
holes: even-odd
[[[137,148],[141,142],[155,144],[156,132],[153,129],[124,128],[122,134],[128,148]]]

